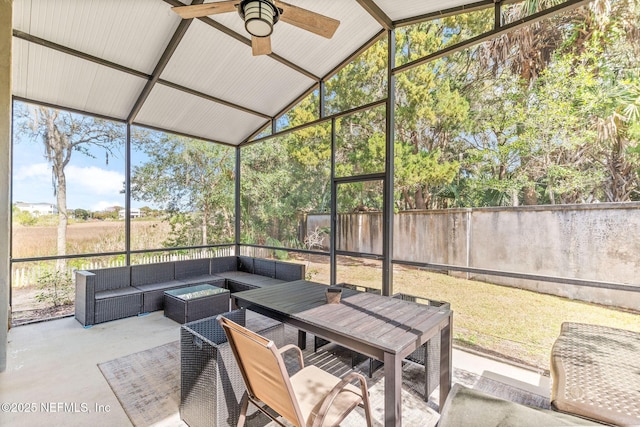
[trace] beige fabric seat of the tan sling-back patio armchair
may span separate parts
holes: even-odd
[[[300,412],[307,421],[307,425],[311,425],[310,418],[315,419],[324,397],[339,382],[340,378],[313,365],[306,366],[291,377],[291,386],[298,398]],[[333,401],[322,425],[340,424],[361,401],[360,388],[348,384]]]

